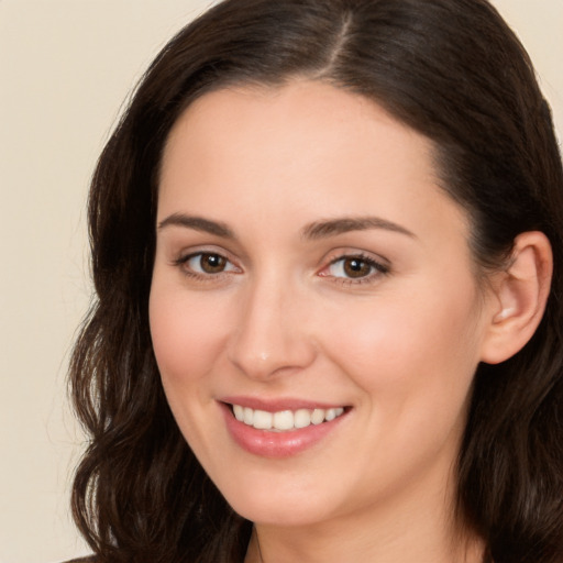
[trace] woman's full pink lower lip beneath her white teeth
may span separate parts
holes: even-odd
[[[288,430],[285,432],[272,432],[258,430],[236,420],[230,405],[220,404],[227,428],[233,440],[247,452],[262,457],[289,457],[313,446],[327,434],[336,430],[340,422],[346,417],[345,411],[330,422],[310,424],[306,428]]]

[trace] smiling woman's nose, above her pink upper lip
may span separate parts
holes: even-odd
[[[268,379],[298,372],[316,357],[307,298],[280,280],[245,288],[228,354],[246,376]]]

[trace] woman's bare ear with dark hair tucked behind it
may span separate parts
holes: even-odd
[[[541,232],[515,239],[509,266],[493,277],[481,360],[498,364],[519,352],[540,324],[550,294],[553,254]]]

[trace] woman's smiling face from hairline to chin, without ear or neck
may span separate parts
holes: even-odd
[[[169,135],[157,222],[163,385],[236,511],[443,499],[486,299],[426,137],[321,82],[208,93]]]

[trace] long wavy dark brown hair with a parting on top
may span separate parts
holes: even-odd
[[[170,128],[206,92],[324,80],[430,139],[467,212],[479,272],[541,231],[554,254],[530,342],[481,364],[457,463],[457,510],[495,563],[563,561],[563,170],[530,59],[486,0],[227,0],[141,80],[89,196],[97,298],[70,365],[89,446],[75,520],[99,562],[242,561],[252,523],[210,482],[170,413],[148,325],[158,172]]]

